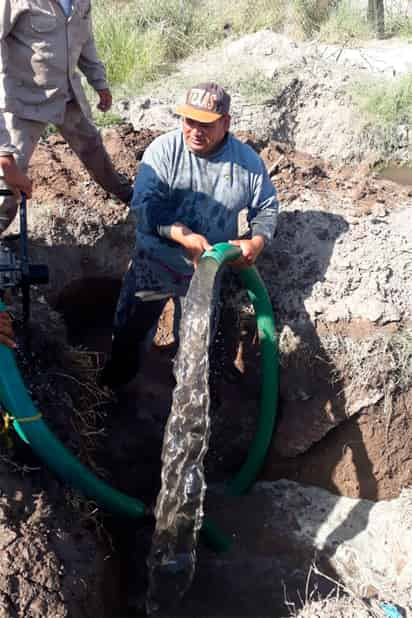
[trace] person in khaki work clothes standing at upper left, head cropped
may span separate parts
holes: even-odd
[[[108,111],[112,97],[96,53],[90,0],[1,0],[0,189],[30,197],[28,164],[52,123],[94,180],[128,203],[132,188],[115,171],[90,120],[77,69],[97,91],[97,107]],[[0,196],[0,234],[16,212],[16,196]]]

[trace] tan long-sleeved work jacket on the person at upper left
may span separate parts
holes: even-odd
[[[58,0],[0,0],[0,153],[14,150],[1,112],[59,124],[76,98],[90,115],[78,68],[95,90],[108,87],[90,12],[91,0],[73,0],[70,17]]]

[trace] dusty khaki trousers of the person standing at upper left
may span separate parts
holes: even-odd
[[[14,155],[20,170],[27,172],[30,159],[47,123],[18,118],[5,113],[5,124],[11,143],[16,147]],[[92,178],[108,193],[128,203],[132,197],[129,181],[118,174],[103,145],[95,125],[84,115],[75,101],[66,106],[64,121],[57,125],[59,133],[79,157]],[[0,188],[7,188],[0,178]],[[0,234],[4,232],[17,214],[17,196],[0,197]]]

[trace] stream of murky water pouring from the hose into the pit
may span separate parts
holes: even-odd
[[[206,492],[210,435],[209,344],[215,318],[216,263],[197,270],[186,297],[175,361],[176,387],[162,450],[156,528],[147,560],[147,611],[168,609],[189,588]]]

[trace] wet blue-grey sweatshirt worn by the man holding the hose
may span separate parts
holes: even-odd
[[[219,150],[201,157],[185,144],[181,129],[155,139],[136,178],[132,208],[137,215],[137,253],[164,272],[188,277],[192,262],[167,237],[180,222],[211,245],[258,234],[266,242],[276,228],[278,201],[262,159],[230,133]]]

